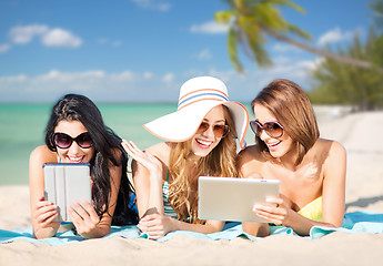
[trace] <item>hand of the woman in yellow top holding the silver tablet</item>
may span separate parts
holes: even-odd
[[[294,211],[281,197],[270,197],[266,204],[255,204],[253,212],[275,225],[289,226]]]

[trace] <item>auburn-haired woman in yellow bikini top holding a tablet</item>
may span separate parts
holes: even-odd
[[[320,137],[304,91],[289,80],[274,80],[251,103],[256,144],[238,157],[242,177],[279,180],[280,197],[256,204],[254,212],[275,225],[309,235],[313,226],[342,226],[346,153]],[[268,235],[268,224],[243,223],[252,235]]]

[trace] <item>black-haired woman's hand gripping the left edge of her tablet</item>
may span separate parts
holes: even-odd
[[[44,197],[39,198],[34,209],[34,221],[38,226],[37,229],[51,228],[52,233],[54,233],[53,235],[56,235],[56,232],[60,226],[60,222],[53,222],[53,219],[59,215],[57,208],[57,205],[46,201]]]

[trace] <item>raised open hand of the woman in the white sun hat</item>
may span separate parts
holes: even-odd
[[[131,157],[144,166],[150,173],[162,174],[162,163],[155,156],[141,151],[132,141],[128,142],[122,140],[121,145]]]

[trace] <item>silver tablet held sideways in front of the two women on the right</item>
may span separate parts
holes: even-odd
[[[200,219],[268,223],[252,209],[270,196],[279,197],[280,181],[235,177],[199,177]]]

